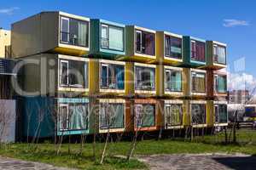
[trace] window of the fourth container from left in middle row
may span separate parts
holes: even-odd
[[[166,91],[182,91],[182,71],[166,69]]]

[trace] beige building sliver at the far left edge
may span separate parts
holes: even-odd
[[[10,56],[10,31],[0,28],[0,58]]]

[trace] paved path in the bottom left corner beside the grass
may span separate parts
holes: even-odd
[[[45,163],[20,161],[0,156],[0,170],[68,170],[64,167],[54,167]]]

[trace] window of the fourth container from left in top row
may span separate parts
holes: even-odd
[[[165,36],[165,56],[182,59],[182,38]]]

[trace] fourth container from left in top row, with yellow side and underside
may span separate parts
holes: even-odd
[[[183,62],[183,37],[166,31],[156,32],[156,63],[181,65]]]

